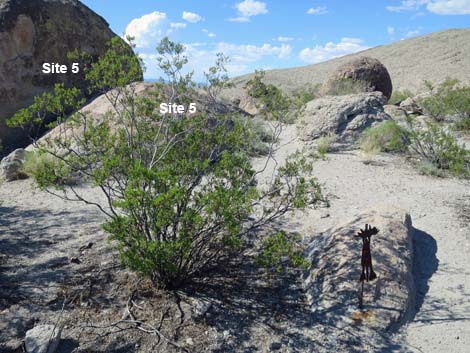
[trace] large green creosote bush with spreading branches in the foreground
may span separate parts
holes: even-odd
[[[205,276],[222,259],[245,251],[253,234],[261,234],[257,240],[264,245],[262,258],[270,259],[264,260],[266,265],[282,254],[283,260],[285,255],[291,265],[301,267],[297,239],[260,231],[287,212],[323,200],[311,177],[311,162],[302,153],[285,163],[274,160],[276,141],[289,120],[289,100],[264,84],[260,75],[248,84],[262,104],[270,136],[253,132],[258,127],[236,114],[218,113],[212,108],[219,104],[218,92],[228,85],[227,59],[218,56],[206,73],[206,102],[200,111],[160,114],[162,102],[189,104],[196,85],[191,73],[182,73],[187,63],[183,45],[165,38],[157,51],[166,78],[145,95],[137,95],[132,83],[140,62],[120,51],[119,43],[112,42],[109,52],[88,66],[90,87],[102,90],[112,106],[106,114],[77,110],[83,104],[79,93],[58,85],[10,120],[12,126],[43,124],[51,110],[76,110],[68,118],[59,114],[55,134],[35,141],[38,153],[49,156],[31,167],[37,184],[59,197],[98,207],[121,261],[164,288],[180,288]],[[253,134],[263,136],[268,146],[259,170],[251,163],[253,151],[247,143]],[[274,165],[270,178],[259,182],[269,165]],[[72,176],[100,190],[104,201],[88,200],[63,182]],[[268,240],[263,241],[262,234]]]

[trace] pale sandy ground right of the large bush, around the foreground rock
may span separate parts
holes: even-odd
[[[289,127],[279,151],[306,147]],[[307,146],[308,148],[308,146]],[[417,307],[412,322],[396,334],[399,349],[412,352],[469,352],[470,183],[419,175],[403,158],[378,157],[364,164],[360,154],[329,154],[314,174],[329,194],[331,208],[296,215],[292,224],[307,237],[341,223],[363,209],[391,204],[407,210],[415,228]],[[464,214],[463,214],[464,213]]]

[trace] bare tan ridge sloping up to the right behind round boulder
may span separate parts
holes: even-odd
[[[379,59],[388,69],[394,89],[424,90],[423,81],[439,83],[446,77],[470,84],[470,28],[449,29],[401,40],[319,64],[270,70],[266,81],[287,92],[308,84],[323,83],[339,65],[359,56]],[[233,79],[235,88],[227,92],[240,95],[240,88],[251,77]]]

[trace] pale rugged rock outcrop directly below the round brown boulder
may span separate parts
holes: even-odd
[[[301,137],[312,140],[333,133],[339,142],[353,143],[366,128],[391,119],[384,112],[385,102],[380,92],[315,99],[302,113]]]

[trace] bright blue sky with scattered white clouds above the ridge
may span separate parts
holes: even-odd
[[[164,36],[202,73],[223,52],[231,76],[307,65],[449,28],[470,27],[470,0],[82,0],[117,34],[136,38],[147,79]]]

